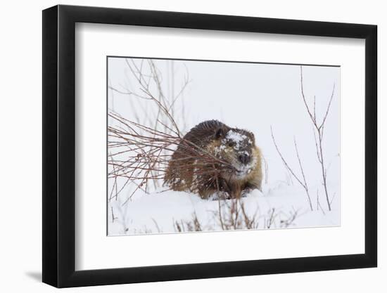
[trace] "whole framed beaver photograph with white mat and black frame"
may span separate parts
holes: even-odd
[[[376,26],[43,11],[43,282],[374,267]]]

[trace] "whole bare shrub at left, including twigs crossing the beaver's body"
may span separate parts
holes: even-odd
[[[176,160],[187,162],[175,164],[177,169],[174,171],[184,178],[193,178],[193,182],[189,184],[191,190],[188,190],[193,193],[198,192],[196,189],[203,185],[203,180],[215,182],[222,171],[234,169],[229,162],[184,139],[176,118],[175,105],[177,98],[186,88],[188,79],[175,96],[167,96],[163,91],[163,79],[156,65],[149,60],[150,73],[144,73],[143,61],[137,65],[133,60],[126,60],[139,90],[128,89],[119,92],[127,94],[129,98],[141,100],[142,104],[151,103],[156,114],[146,115],[146,121],[141,121],[138,116],[129,120],[113,110],[108,113],[112,121],[108,125],[108,179],[113,182],[109,199],[117,199],[128,183],[135,186],[123,204],[131,200],[137,190],[148,193],[150,188],[155,190],[160,187],[165,179],[168,164]],[[118,91],[113,87],[111,89]],[[172,158],[177,146],[185,150],[185,157]],[[191,168],[188,162],[192,159],[200,168]],[[123,180],[120,188],[118,180]]]

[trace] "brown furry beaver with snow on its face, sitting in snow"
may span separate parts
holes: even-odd
[[[261,190],[262,155],[254,134],[217,120],[201,122],[177,145],[164,183],[203,199],[212,195],[239,198],[250,190]]]

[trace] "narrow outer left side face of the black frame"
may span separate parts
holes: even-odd
[[[42,12],[42,281],[58,286],[58,6]]]

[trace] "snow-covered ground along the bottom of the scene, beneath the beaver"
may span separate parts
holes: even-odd
[[[141,190],[139,192],[141,193]],[[238,202],[239,225],[236,228],[247,228],[240,204],[243,204],[248,219],[255,219],[253,228],[338,226],[339,198],[335,197],[331,211],[326,209],[324,197],[319,198],[321,207],[317,209],[316,199],[316,202],[313,202],[314,210],[311,211],[303,188],[279,182],[266,186],[264,193],[253,190]],[[198,219],[202,231],[226,230],[224,226],[227,226],[227,223],[228,228],[232,230],[235,227],[231,225],[229,217],[233,202],[235,201],[202,200],[195,194],[170,190],[139,195],[136,200],[125,204],[121,200],[113,200],[108,209],[109,235],[189,232],[195,230],[195,218]],[[234,217],[235,215],[232,214]]]

